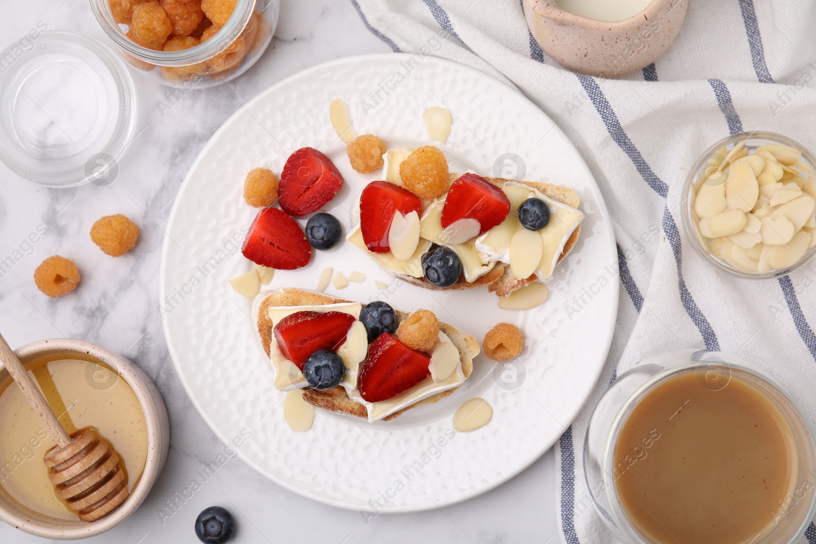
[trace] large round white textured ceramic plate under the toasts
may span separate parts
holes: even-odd
[[[428,308],[480,342],[499,321],[516,323],[526,334],[525,352],[512,365],[478,356],[468,382],[436,404],[373,424],[318,409],[310,431],[293,432],[283,418],[283,394],[272,386],[272,370],[253,332],[250,301],[228,280],[250,268],[240,253],[257,213],[242,198],[248,170],[266,166],[279,173],[295,149],[322,150],[346,180],[325,210],[346,228],[361,189],[381,175],[362,176],[349,165],[345,145],[329,122],[335,98],[348,104],[358,134],[379,135],[392,148],[432,144],[422,113],[430,106],[448,108],[454,122],[439,146],[452,171],[492,175],[497,163],[512,177],[512,165],[504,161],[504,154],[512,153],[524,162],[517,170],[526,170],[525,179],[574,188],[586,219],[579,244],[557,268],[550,299],[525,312],[499,309],[485,288],[449,292],[404,284],[348,243],[315,252],[298,271],[276,272],[270,288],[314,289],[324,268],[357,270],[366,274],[365,282],[344,290],[330,285],[326,293],[363,303],[384,299],[406,311]],[[333,506],[428,510],[509,480],[550,448],[578,414],[612,338],[617,254],[609,215],[587,166],[561,130],[523,95],[443,60],[352,57],[270,87],[206,144],[184,179],[166,232],[162,320],[193,404],[224,444],[244,429],[251,433],[235,448],[244,462],[286,489]],[[375,279],[388,282],[388,289],[378,290]],[[474,396],[490,403],[493,419],[479,431],[455,434],[455,409]]]

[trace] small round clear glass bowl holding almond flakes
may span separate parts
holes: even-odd
[[[740,262],[734,259],[734,255],[726,255],[730,259],[723,258],[722,247],[717,247],[716,243],[707,237],[704,237],[700,232],[700,218],[695,211],[695,201],[697,199],[698,191],[703,187],[703,184],[724,184],[727,175],[715,176],[717,170],[723,170],[726,174],[729,172],[730,163],[741,159],[740,155],[745,153],[756,153],[758,148],[765,145],[783,145],[794,148],[801,153],[796,162],[791,165],[780,164],[783,177],[778,179],[781,184],[788,184],[796,182],[800,187],[801,194],[808,197],[816,197],[816,177],[814,177],[814,167],[816,167],[816,159],[813,155],[801,144],[787,138],[783,135],[778,135],[773,132],[743,132],[736,135],[731,135],[728,138],[721,139],[716,144],[708,148],[705,153],[698,159],[694,166],[689,171],[689,177],[685,181],[683,188],[683,211],[681,213],[683,228],[691,245],[698,254],[703,256],[707,263],[710,263],[717,270],[728,272],[734,276],[747,279],[764,279],[774,278],[778,276],[785,276],[790,272],[800,268],[807,263],[816,254],[816,228],[814,228],[814,219],[809,219],[809,223],[801,230],[808,232],[810,236],[809,247],[805,250],[800,259],[794,263],[786,263],[787,266],[778,268],[770,267],[769,270],[760,268],[753,270],[755,264],[750,261],[741,260],[740,262],[747,265],[741,266]],[[739,148],[738,148],[739,147]],[[722,164],[726,166],[721,168]],[[763,172],[764,173],[764,172]],[[763,179],[764,181],[764,179]],[[758,182],[761,183],[761,182]],[[727,185],[726,185],[727,187]],[[762,188],[760,189],[760,200],[762,198]],[[759,201],[757,205],[759,206]],[[756,210],[755,206],[755,210]],[[773,211],[777,210],[779,206],[771,206],[771,219],[773,219]],[[809,226],[807,226],[809,225]],[[771,227],[774,225],[772,224]],[[811,230],[813,229],[813,230]],[[802,237],[803,239],[805,237]],[[750,242],[749,242],[750,243]],[[748,245],[743,243],[743,245]],[[791,247],[793,242],[783,244],[786,247]],[[758,248],[759,245],[756,245]],[[725,245],[726,250],[734,250],[733,245]],[[755,249],[756,249],[755,248]],[[745,249],[745,248],[742,248]],[[738,255],[741,259],[745,259],[743,252],[738,248],[737,251],[741,253]],[[719,252],[719,254],[717,254]],[[761,256],[760,252],[755,255]],[[749,255],[751,257],[752,255]],[[784,259],[779,259],[784,260]],[[758,261],[757,261],[758,263]]]

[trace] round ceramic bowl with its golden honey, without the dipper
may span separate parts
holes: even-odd
[[[41,340],[15,353],[65,431],[94,427],[109,437],[122,456],[130,494],[91,522],[60,502],[42,463],[55,439],[0,365],[0,520],[60,540],[113,529],[140,506],[164,467],[170,422],[162,396],[139,367],[82,340]]]

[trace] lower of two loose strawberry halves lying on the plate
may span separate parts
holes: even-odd
[[[295,270],[308,264],[312,246],[295,219],[277,208],[264,208],[246,233],[241,252],[261,266]]]

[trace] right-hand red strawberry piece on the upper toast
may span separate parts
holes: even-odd
[[[504,192],[481,175],[465,174],[450,184],[450,191],[442,208],[442,228],[450,227],[459,219],[476,219],[484,234],[507,219],[510,201]]]

